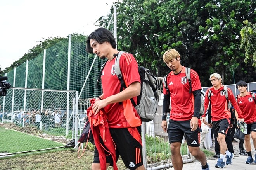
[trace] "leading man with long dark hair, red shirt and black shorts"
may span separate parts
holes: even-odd
[[[102,108],[105,110],[111,137],[116,145],[116,158],[120,155],[125,166],[131,170],[145,170],[142,161],[141,120],[130,100],[133,98],[137,102],[136,97],[140,94],[137,61],[129,53],[120,57],[120,70],[127,86],[120,92],[121,83],[114,66],[119,51],[112,32],[105,28],[96,29],[88,36],[86,44],[88,53],[95,53],[100,59],[108,59],[101,75],[103,94],[96,98],[92,106],[93,113],[97,114]],[[92,170],[100,170],[99,160],[95,148]],[[113,165],[113,161],[117,160],[106,156],[106,168]]]

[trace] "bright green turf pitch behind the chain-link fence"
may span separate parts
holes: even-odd
[[[0,153],[15,153],[64,146],[62,143],[2,127],[0,127],[0,143]]]

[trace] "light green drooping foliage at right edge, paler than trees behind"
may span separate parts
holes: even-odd
[[[253,62],[253,66],[256,67],[256,24],[251,24],[248,20],[243,22],[246,24],[240,32],[241,42],[240,48],[245,51],[244,62],[247,64],[248,61]]]

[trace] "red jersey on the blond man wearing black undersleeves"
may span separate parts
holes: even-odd
[[[191,69],[190,78],[192,91],[200,90],[201,83],[197,72]],[[171,94],[170,119],[175,121],[191,119],[194,115],[194,97],[192,92],[189,93],[190,86],[186,78],[185,67],[177,75],[171,71],[167,76],[167,84]],[[163,94],[168,94],[165,88]]]

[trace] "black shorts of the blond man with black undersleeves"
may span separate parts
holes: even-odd
[[[174,121],[170,120],[167,128],[169,143],[180,142],[185,133],[187,145],[192,147],[200,146],[200,132],[199,128],[191,131],[190,120],[187,121]]]

